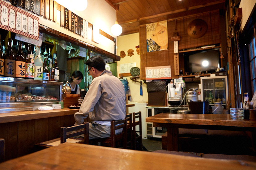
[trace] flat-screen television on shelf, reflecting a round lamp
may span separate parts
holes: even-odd
[[[220,67],[219,49],[203,50],[184,55],[185,72],[215,72]]]

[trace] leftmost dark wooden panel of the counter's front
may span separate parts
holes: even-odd
[[[0,138],[5,140],[5,160],[18,156],[18,122],[0,124]]]

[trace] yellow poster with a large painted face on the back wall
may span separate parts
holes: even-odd
[[[146,24],[147,52],[168,49],[167,20]]]

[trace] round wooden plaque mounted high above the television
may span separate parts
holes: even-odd
[[[207,23],[202,19],[194,19],[188,25],[187,32],[192,38],[200,38],[207,31]]]

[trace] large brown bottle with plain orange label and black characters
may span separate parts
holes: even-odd
[[[16,54],[16,77],[25,78],[26,75],[26,62],[24,53],[22,51],[22,42],[19,41],[18,52]]]

